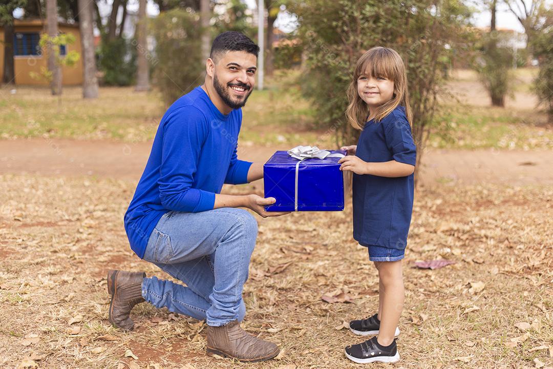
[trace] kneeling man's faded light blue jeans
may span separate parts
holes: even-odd
[[[169,211],[154,228],[144,259],[186,287],[144,278],[142,297],[156,308],[208,325],[242,320],[243,285],[257,238],[257,221],[243,209],[223,207],[197,213]]]

